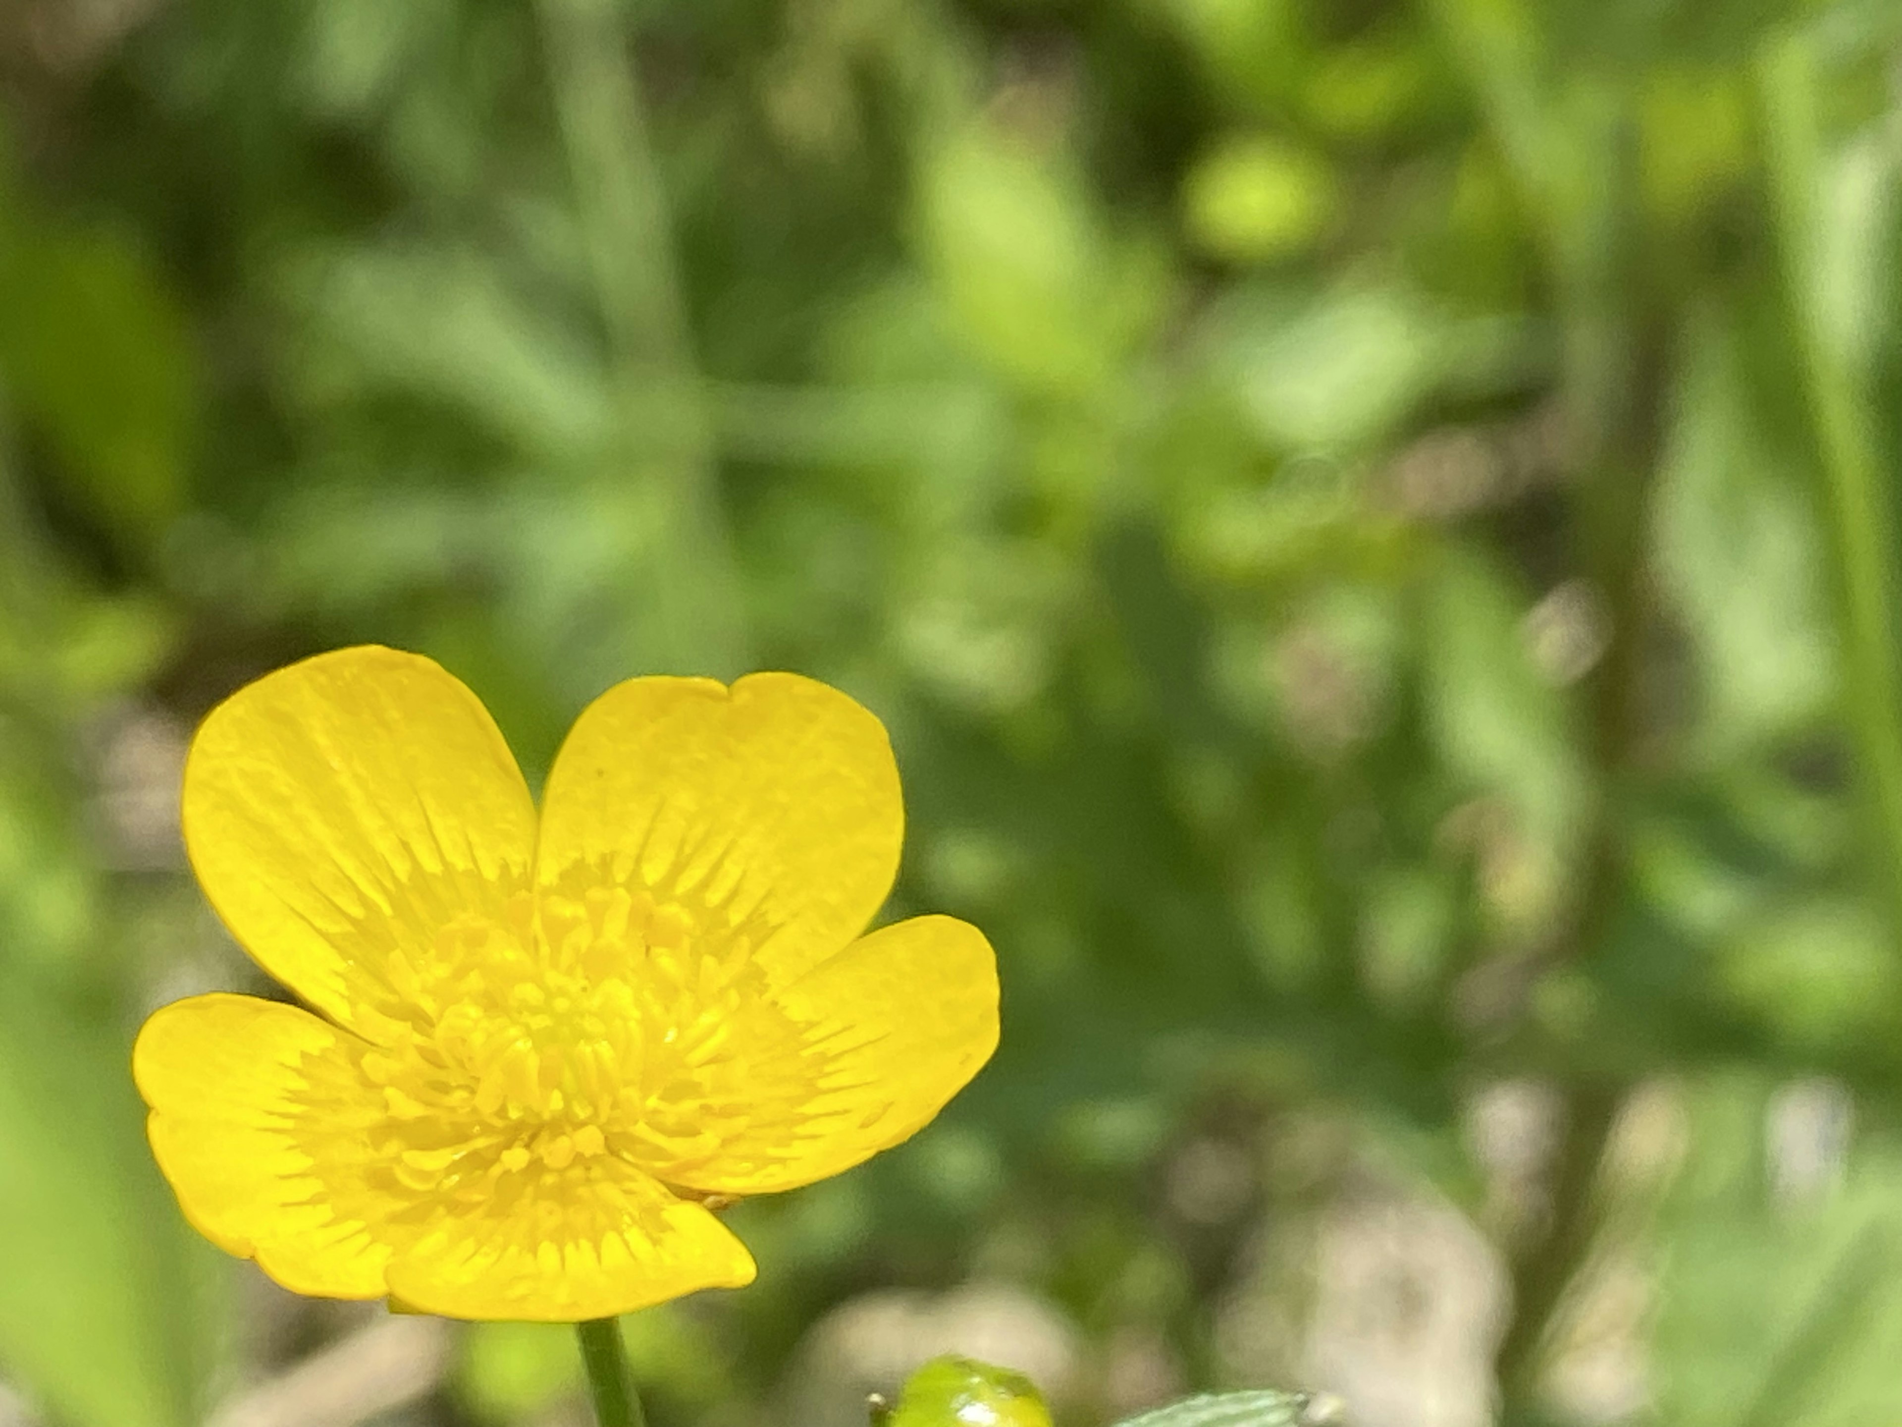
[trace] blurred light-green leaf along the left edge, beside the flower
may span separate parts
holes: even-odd
[[[78,596],[30,533],[0,529],[0,1370],[61,1423],[184,1427],[213,1330],[204,1256],[145,1147],[116,906],[68,765],[162,626]]]

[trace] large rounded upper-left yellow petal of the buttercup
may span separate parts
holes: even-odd
[[[502,923],[534,805],[489,714],[434,662],[340,649],[240,689],[184,765],[184,843],[251,957],[344,1026],[436,955],[451,919]]]

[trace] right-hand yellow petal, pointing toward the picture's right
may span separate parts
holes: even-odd
[[[730,1085],[751,1113],[654,1172],[721,1195],[812,1183],[909,1140],[991,1058],[997,957],[970,923],[913,917],[776,991],[732,1043]]]

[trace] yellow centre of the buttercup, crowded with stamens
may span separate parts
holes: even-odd
[[[365,1187],[493,1206],[626,1164],[666,1180],[709,1153],[757,1100],[736,1026],[789,1029],[755,942],[708,908],[612,887],[519,894],[502,923],[462,915],[430,955],[392,953],[359,1058],[382,1098],[359,1123]]]

